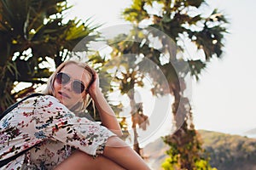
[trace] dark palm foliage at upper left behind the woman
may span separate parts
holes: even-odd
[[[69,8],[66,0],[0,1],[0,113],[45,83],[51,73],[44,66],[49,60],[53,67],[60,65],[83,37],[97,37],[89,20],[65,20]],[[20,82],[30,84],[14,90]]]

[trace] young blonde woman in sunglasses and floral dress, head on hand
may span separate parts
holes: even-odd
[[[0,122],[0,159],[32,147],[3,169],[149,169],[118,136],[119,123],[96,71],[66,61],[49,77],[45,95],[21,102]],[[102,125],[78,114],[90,98]]]

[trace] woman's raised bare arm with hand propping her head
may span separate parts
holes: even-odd
[[[122,136],[122,131],[119,126],[119,122],[110,107],[108,101],[105,99],[102,91],[99,88],[99,77],[95,73],[95,81],[91,84],[89,89],[89,94],[93,101],[95,102],[96,108],[100,113],[102,125],[108,127],[113,133],[117,134],[119,137]]]

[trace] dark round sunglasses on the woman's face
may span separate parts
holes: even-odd
[[[71,79],[72,78],[64,72],[57,73],[55,77],[55,81],[62,85],[67,84],[67,82],[70,82]],[[85,89],[84,82],[81,82],[79,80],[73,80],[72,88],[76,94],[82,94]]]

